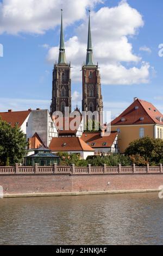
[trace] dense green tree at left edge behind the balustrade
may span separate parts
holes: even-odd
[[[11,127],[0,119],[0,165],[21,163],[26,155],[27,142],[24,133],[16,125]]]

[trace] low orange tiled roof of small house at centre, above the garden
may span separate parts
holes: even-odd
[[[78,137],[52,138],[49,149],[52,151],[95,151]]]

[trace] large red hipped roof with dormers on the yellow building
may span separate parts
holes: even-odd
[[[163,115],[152,103],[135,100],[122,114],[115,118],[111,125],[163,125]]]

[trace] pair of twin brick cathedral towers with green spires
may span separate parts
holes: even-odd
[[[90,11],[89,29],[87,38],[86,62],[82,66],[83,100],[82,111],[95,112],[103,111],[103,98],[101,93],[101,76],[98,65],[93,60]],[[69,107],[71,113],[71,63],[66,62],[64,31],[61,10],[61,30],[58,63],[54,64],[51,115],[55,111],[65,113],[65,107]]]

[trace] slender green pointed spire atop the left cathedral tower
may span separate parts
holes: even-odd
[[[63,32],[63,24],[62,24],[62,9],[61,9],[61,29],[60,29],[60,47],[59,47],[58,64],[66,64],[64,32]]]

